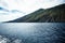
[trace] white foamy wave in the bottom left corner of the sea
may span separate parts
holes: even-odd
[[[4,35],[0,35],[0,43],[22,43],[22,40],[20,39],[10,40],[9,38]]]

